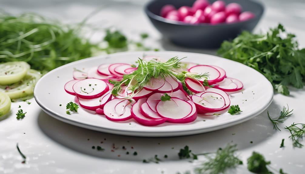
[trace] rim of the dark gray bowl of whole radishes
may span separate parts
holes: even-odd
[[[163,23],[169,23],[169,24],[180,25],[180,26],[206,26],[206,27],[235,26],[235,25],[239,25],[239,24],[243,24],[243,23],[249,23],[249,22],[252,22],[254,20],[260,20],[260,18],[263,16],[264,11],[265,11],[264,5],[261,2],[253,1],[253,0],[247,0],[247,1],[250,1],[250,2],[253,2],[253,3],[256,3],[261,8],[260,13],[252,19],[237,22],[237,23],[220,23],[220,24],[216,24],[216,25],[211,25],[210,23],[189,24],[189,23],[184,23],[182,21],[175,21],[175,20],[166,19],[166,18],[163,18],[162,16],[159,16],[159,15],[156,15],[156,14],[152,13],[148,9],[148,7],[156,1],[157,0],[151,0],[151,1],[146,3],[145,8],[144,8],[144,11],[145,11],[146,15],[149,16],[150,18],[153,18],[153,19],[158,20],[158,21],[163,22]]]

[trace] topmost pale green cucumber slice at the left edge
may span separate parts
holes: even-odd
[[[0,64],[0,85],[19,82],[25,77],[30,65],[27,62],[6,62]]]

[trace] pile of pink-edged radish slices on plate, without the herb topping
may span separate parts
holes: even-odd
[[[82,108],[105,115],[108,120],[136,120],[145,126],[156,126],[164,122],[189,123],[197,118],[197,114],[211,116],[225,112],[230,106],[228,94],[239,92],[242,82],[228,78],[224,69],[214,65],[197,65],[184,63],[183,71],[189,73],[208,73],[207,82],[210,87],[203,86],[205,79],[185,79],[186,87],[192,92],[188,94],[180,81],[175,77],[151,78],[148,84],[131,96],[132,92],[122,86],[121,92],[113,96],[113,85],[109,79],[120,81],[123,75],[130,74],[137,68],[131,64],[101,64],[89,69],[75,69],[74,80],[67,82],[64,89],[76,95],[75,102]],[[161,100],[165,93],[169,100]]]

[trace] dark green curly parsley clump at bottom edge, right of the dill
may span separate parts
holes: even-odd
[[[265,161],[263,155],[253,151],[252,156],[248,158],[248,170],[253,173],[271,173],[267,169],[267,165],[271,164],[270,161]]]

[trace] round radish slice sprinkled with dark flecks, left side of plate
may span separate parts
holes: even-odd
[[[109,86],[102,80],[86,78],[76,82],[73,91],[82,99],[95,99],[109,91]]]

